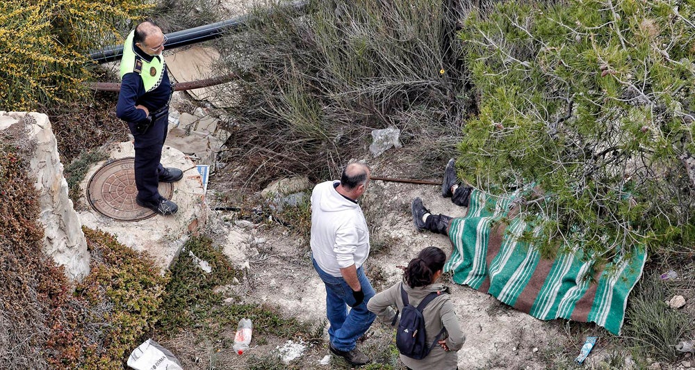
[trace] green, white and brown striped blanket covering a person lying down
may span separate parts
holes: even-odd
[[[583,261],[576,249],[553,260],[541,259],[537,249],[518,241],[522,232],[533,230],[522,217],[509,215],[514,198],[471,193],[468,214],[451,221],[453,251],[444,271],[452,271],[455,282],[490,293],[538,319],[594,322],[619,335],[646,251],[635,250],[625,261],[601,271],[594,271],[594,264]],[[495,222],[503,217],[511,219]]]

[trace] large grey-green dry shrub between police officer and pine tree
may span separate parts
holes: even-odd
[[[373,129],[401,129],[404,155],[454,152],[466,108],[455,50],[459,10],[432,0],[310,1],[254,10],[224,40],[240,76],[228,160],[255,186],[281,175],[313,179],[363,153]]]

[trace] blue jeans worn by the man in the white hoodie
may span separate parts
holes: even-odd
[[[359,280],[364,292],[364,301],[354,306],[352,289],[350,289],[350,285],[347,285],[345,279],[336,278],[321,270],[313,257],[311,262],[326,285],[326,316],[331,324],[328,328],[331,344],[340,351],[352,351],[357,344],[357,339],[364,335],[377,317],[367,309],[367,302],[375,294],[374,288],[367,276],[364,275],[364,268],[360,266],[357,269],[357,280]],[[347,312],[347,306],[352,307],[350,312]]]

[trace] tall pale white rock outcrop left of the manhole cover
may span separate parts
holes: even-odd
[[[20,124],[22,140],[33,150],[29,162],[40,195],[40,222],[45,227],[44,252],[65,266],[68,278],[81,281],[90,272],[90,255],[72,200],[51,122],[42,113],[0,112],[0,131]]]

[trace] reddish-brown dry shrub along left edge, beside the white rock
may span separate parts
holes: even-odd
[[[73,316],[71,289],[63,268],[42,252],[38,194],[27,186],[34,181],[26,175],[26,153],[7,134],[0,147],[0,368],[44,369],[64,358],[56,344],[70,332],[65,318]]]

